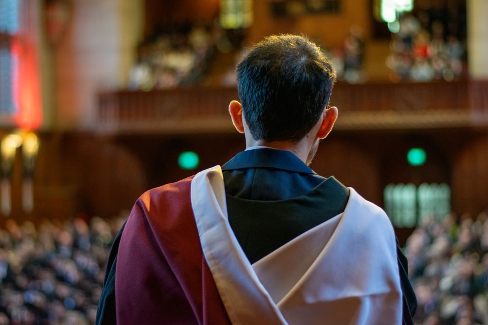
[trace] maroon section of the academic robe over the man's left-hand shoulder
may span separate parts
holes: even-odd
[[[151,189],[134,205],[118,249],[117,324],[230,324],[202,253],[192,178]]]

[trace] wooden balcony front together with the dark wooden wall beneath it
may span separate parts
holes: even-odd
[[[389,183],[445,182],[453,211],[477,214],[488,207],[487,89],[486,81],[338,84],[339,120],[312,168],[380,206]],[[32,214],[21,209],[17,157],[12,217],[110,217],[146,189],[225,163],[245,148],[226,109],[236,98],[235,88],[208,87],[101,94],[95,131],[40,134]],[[407,164],[412,147],[427,152],[424,166]],[[177,166],[187,150],[200,155],[195,171]]]

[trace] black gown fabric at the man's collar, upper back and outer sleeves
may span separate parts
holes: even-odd
[[[242,151],[222,171],[229,223],[251,263],[343,212],[349,199],[349,190],[338,180],[317,175],[288,151]],[[112,244],[96,324],[115,324],[115,266],[123,230],[124,226]],[[417,301],[398,243],[397,251],[403,323],[410,325]]]

